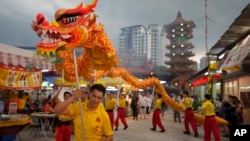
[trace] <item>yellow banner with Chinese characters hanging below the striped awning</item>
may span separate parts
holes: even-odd
[[[42,71],[25,69],[11,69],[0,67],[1,89],[38,89],[42,86]]]

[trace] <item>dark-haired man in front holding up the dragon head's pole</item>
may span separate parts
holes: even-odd
[[[56,106],[57,114],[74,117],[75,141],[113,141],[110,120],[101,104],[105,91],[105,87],[101,84],[94,84],[90,88],[89,100],[81,103],[84,129],[82,129],[79,106],[69,106],[82,96],[80,90],[74,91],[72,98]]]

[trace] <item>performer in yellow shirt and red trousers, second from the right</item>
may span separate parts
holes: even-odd
[[[194,131],[194,136],[198,137],[198,128],[197,124],[194,119],[194,111],[192,109],[192,99],[189,97],[188,91],[183,92],[183,105],[185,106],[185,112],[184,112],[184,126],[185,126],[185,131],[183,131],[184,134],[190,135],[189,131],[189,123],[192,126],[192,129]]]

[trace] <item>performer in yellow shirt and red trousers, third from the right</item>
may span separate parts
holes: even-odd
[[[156,131],[156,126],[158,125],[159,128],[161,129],[160,132],[165,132],[165,128],[161,122],[161,118],[160,118],[160,113],[161,113],[161,95],[157,94],[156,95],[156,101],[155,101],[155,110],[153,113],[153,119],[152,119],[152,123],[153,123],[153,128],[151,128],[150,130],[152,131]]]

